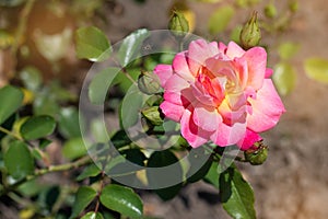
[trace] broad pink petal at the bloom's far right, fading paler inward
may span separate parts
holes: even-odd
[[[247,127],[256,132],[266,131],[276,126],[281,114],[285,112],[271,79],[265,79],[256,100],[249,99],[248,101],[253,107],[253,114],[247,116]]]

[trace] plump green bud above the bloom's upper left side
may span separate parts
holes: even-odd
[[[185,36],[189,32],[189,24],[181,12],[173,11],[168,22],[168,30],[177,37]]]

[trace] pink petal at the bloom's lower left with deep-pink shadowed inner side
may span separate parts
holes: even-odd
[[[192,148],[197,148],[209,140],[210,134],[194,123],[191,112],[189,110],[184,112],[180,124],[181,135]]]

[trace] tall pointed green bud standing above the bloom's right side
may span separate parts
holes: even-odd
[[[257,22],[257,12],[254,12],[249,21],[241,32],[241,43],[245,49],[257,46],[261,39],[261,32]]]

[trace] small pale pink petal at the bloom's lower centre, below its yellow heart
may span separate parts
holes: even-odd
[[[206,108],[201,105],[195,108],[192,119],[197,126],[208,131],[216,130],[222,123],[222,117],[215,108]]]

